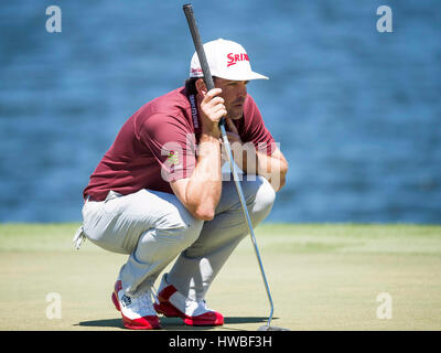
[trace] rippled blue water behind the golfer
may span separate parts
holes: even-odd
[[[2,1],[0,222],[80,220],[125,120],[186,78],[180,1]],[[45,10],[62,9],[47,33]],[[379,6],[392,10],[379,33]],[[193,1],[203,41],[241,43],[290,163],[268,221],[441,223],[441,2]]]

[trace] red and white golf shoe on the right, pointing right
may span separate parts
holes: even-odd
[[[194,301],[166,282],[166,274],[159,287],[158,300],[153,304],[158,313],[169,318],[181,318],[189,325],[222,325],[224,317],[207,308],[205,300]]]

